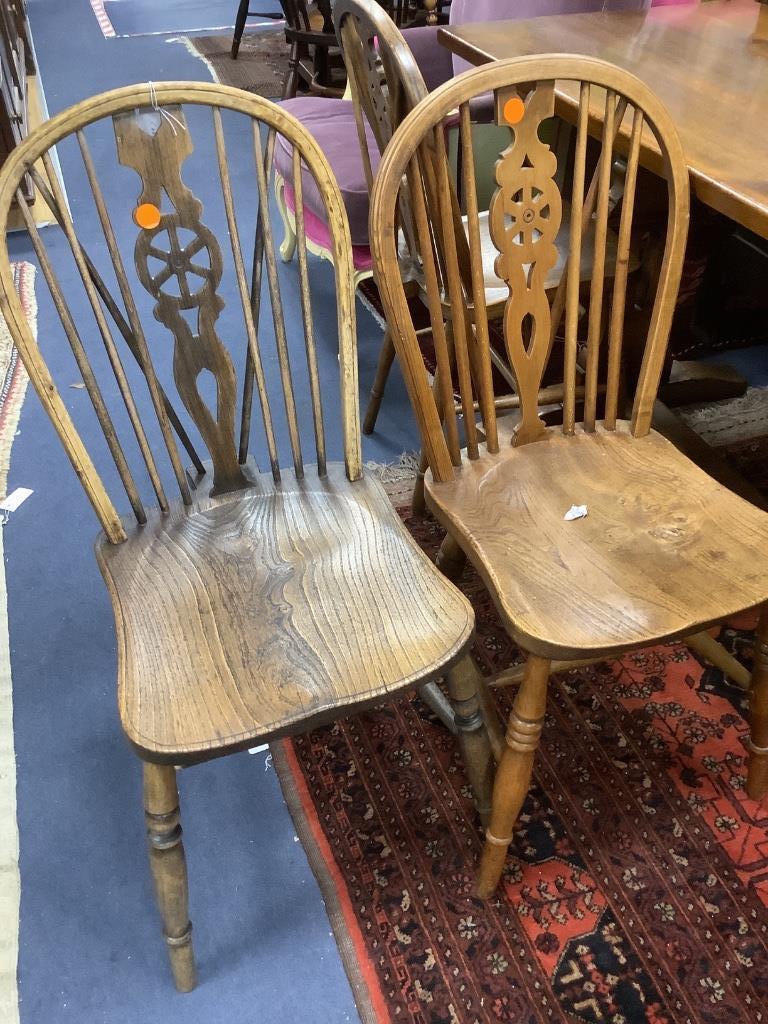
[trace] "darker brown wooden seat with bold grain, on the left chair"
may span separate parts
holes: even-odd
[[[472,636],[468,602],[378,480],[341,465],[249,475],[252,489],[147,510],[97,546],[121,721],[146,760],[201,761],[359,710],[442,674]]]

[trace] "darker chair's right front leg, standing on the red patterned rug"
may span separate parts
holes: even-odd
[[[483,717],[482,678],[472,658],[466,654],[449,670],[446,679],[464,768],[474,793],[480,821],[487,825],[496,763]]]

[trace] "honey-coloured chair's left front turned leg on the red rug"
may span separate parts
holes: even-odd
[[[507,724],[506,746],[496,772],[490,825],[485,831],[477,894],[492,896],[502,877],[512,829],[530,786],[534,757],[544,725],[550,660],[530,655]]]

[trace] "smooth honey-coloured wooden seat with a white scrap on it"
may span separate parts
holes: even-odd
[[[651,430],[632,437],[550,428],[466,458],[453,480],[425,476],[427,505],[482,577],[506,627],[531,654],[568,659],[685,636],[765,600],[756,551],[765,512]],[[566,522],[571,505],[587,516]],[[737,571],[734,571],[737,566]]]

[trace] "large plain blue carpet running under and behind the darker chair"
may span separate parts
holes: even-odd
[[[153,37],[105,40],[87,0],[30,0],[29,10],[52,114],[101,89],[206,74],[177,44]],[[236,194],[242,195],[251,187],[250,165],[245,151],[239,153],[245,140],[228,122],[227,132]],[[210,178],[214,158],[205,148],[210,140],[197,129],[194,134],[209,177],[196,176],[190,160],[188,180],[204,203],[206,222],[224,241],[217,184]],[[105,159],[98,144],[93,152],[97,164]],[[59,155],[81,236],[86,248],[95,246],[82,169],[72,150],[61,147]],[[124,180],[104,184],[108,201],[125,187]],[[130,189],[135,177],[128,209]],[[57,236],[46,229],[46,241],[60,254]],[[24,236],[13,238],[11,250],[13,258],[34,262]],[[318,336],[326,337],[332,275],[317,261],[311,272],[325,294]],[[295,266],[283,268],[282,281],[295,308]],[[38,301],[41,348],[77,415],[87,399],[68,387],[79,375],[42,282]],[[226,313],[218,326],[226,337]],[[358,338],[366,394],[380,331],[361,308]],[[337,366],[330,342],[321,355],[325,385],[333,388]],[[273,361],[268,373],[274,379]],[[333,413],[332,404],[329,444],[338,457]],[[301,415],[306,418],[305,407]],[[84,431],[95,435],[92,423]],[[395,373],[379,433],[367,440],[365,455],[392,461],[416,444]],[[238,755],[181,773],[201,984],[189,995],[174,992],[146,867],[140,766],[122,737],[115,707],[113,618],[91,550],[96,523],[32,391],[13,447],[9,486],[19,485],[35,489],[5,527],[22,848],[22,1021],[356,1020],[323,902],[263,755]]]

